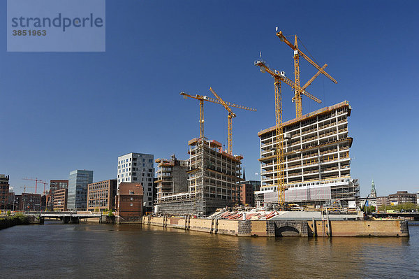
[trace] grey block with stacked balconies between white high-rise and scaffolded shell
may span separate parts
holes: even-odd
[[[188,191],[188,160],[178,160],[172,155],[171,159],[156,159],[156,163],[157,203],[163,196]]]

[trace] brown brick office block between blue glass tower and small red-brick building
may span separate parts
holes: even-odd
[[[110,179],[90,183],[87,186],[87,210],[103,211],[115,208],[117,180]]]

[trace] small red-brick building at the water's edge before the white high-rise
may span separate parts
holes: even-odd
[[[115,198],[118,224],[141,222],[143,195],[140,183],[119,184]]]

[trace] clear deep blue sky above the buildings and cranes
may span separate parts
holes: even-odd
[[[106,1],[106,52],[6,52],[0,25],[0,173],[16,192],[22,178],[94,181],[117,176],[128,152],[187,158],[199,136],[198,101],[179,92],[257,108],[235,110],[233,151],[247,179],[260,179],[260,129],[274,125],[273,80],[253,61],[262,52],[293,77],[293,52],[275,36],[298,34],[337,85],[319,77],[303,113],[348,100],[351,176],[361,194],[419,190],[418,1]],[[0,3],[6,22],[6,1]],[[302,84],[316,70],[301,60]],[[284,121],[295,117],[283,85]],[[226,143],[226,111],[205,104],[205,135]],[[40,190],[38,189],[38,192]]]

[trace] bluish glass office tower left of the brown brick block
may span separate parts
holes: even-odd
[[[87,210],[87,185],[92,182],[93,171],[71,171],[68,176],[68,210]]]

